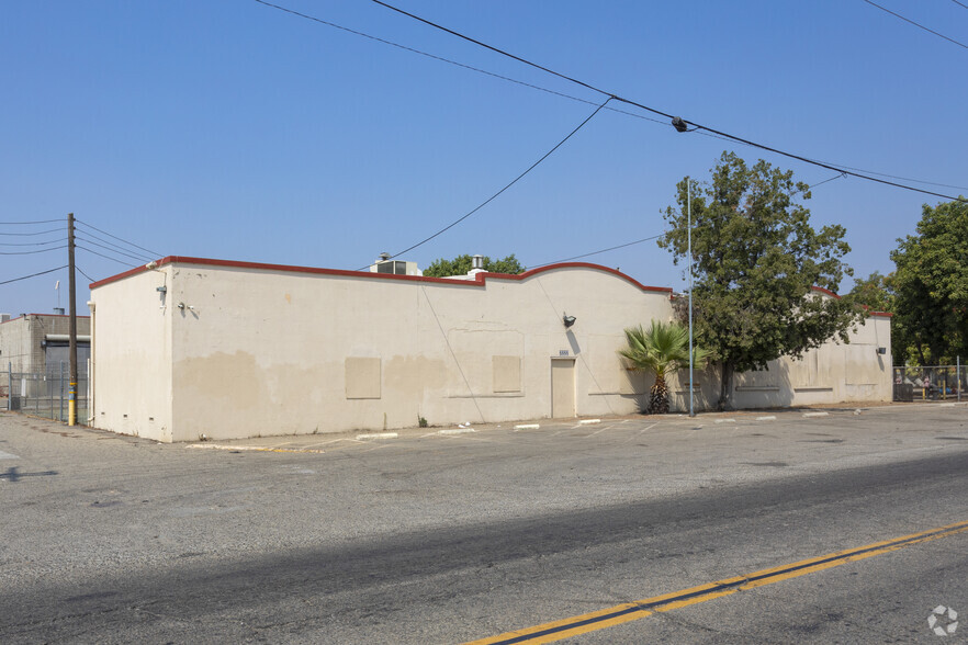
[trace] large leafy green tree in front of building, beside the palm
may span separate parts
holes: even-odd
[[[709,183],[691,191],[696,338],[721,367],[719,407],[732,407],[733,376],[762,370],[780,357],[798,358],[833,337],[847,341],[860,318],[847,298],[824,297],[853,273],[843,226],[810,226],[809,186],[759,160],[750,168],[723,152]],[[687,261],[686,180],[678,208],[665,210],[669,230],[659,246]]]

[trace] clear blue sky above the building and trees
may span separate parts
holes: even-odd
[[[601,100],[365,0],[277,1]],[[968,42],[968,9],[955,2],[879,3]],[[696,123],[814,159],[968,185],[968,49],[862,0],[396,4]],[[249,0],[7,2],[0,60],[0,222],[74,212],[158,257],[363,267],[465,214],[594,110]],[[439,257],[516,253],[533,267],[657,235],[675,182],[706,179],[724,149],[811,184],[834,176],[603,111],[514,188],[404,259],[426,268]],[[922,204],[938,201],[837,179],[807,204],[815,226],[846,227],[848,262],[866,276],[892,269],[896,238],[914,231]],[[683,286],[682,269],[652,241],[587,261]],[[64,263],[64,250],[2,254],[0,282]],[[87,250],[78,265],[94,279],[125,270]],[[66,276],[0,285],[0,312],[49,312]],[[79,284],[86,313],[88,281]]]

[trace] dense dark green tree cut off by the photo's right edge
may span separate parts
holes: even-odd
[[[925,204],[916,235],[898,242],[894,321],[912,358],[926,365],[968,355],[968,202]]]

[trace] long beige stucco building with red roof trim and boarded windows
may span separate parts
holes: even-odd
[[[91,290],[92,422],[159,441],[631,414],[651,382],[619,360],[623,329],[673,318],[672,290],[586,263],[439,279],[169,257]],[[889,400],[889,333],[869,318],[856,346],[742,377],[738,404]],[[710,375],[697,388],[716,400]]]

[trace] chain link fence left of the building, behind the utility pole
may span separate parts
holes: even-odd
[[[0,376],[0,399],[7,399],[7,409],[46,419],[67,421],[70,398],[70,369],[60,365],[47,373],[13,372]],[[78,377],[77,422],[88,419],[88,378]]]

